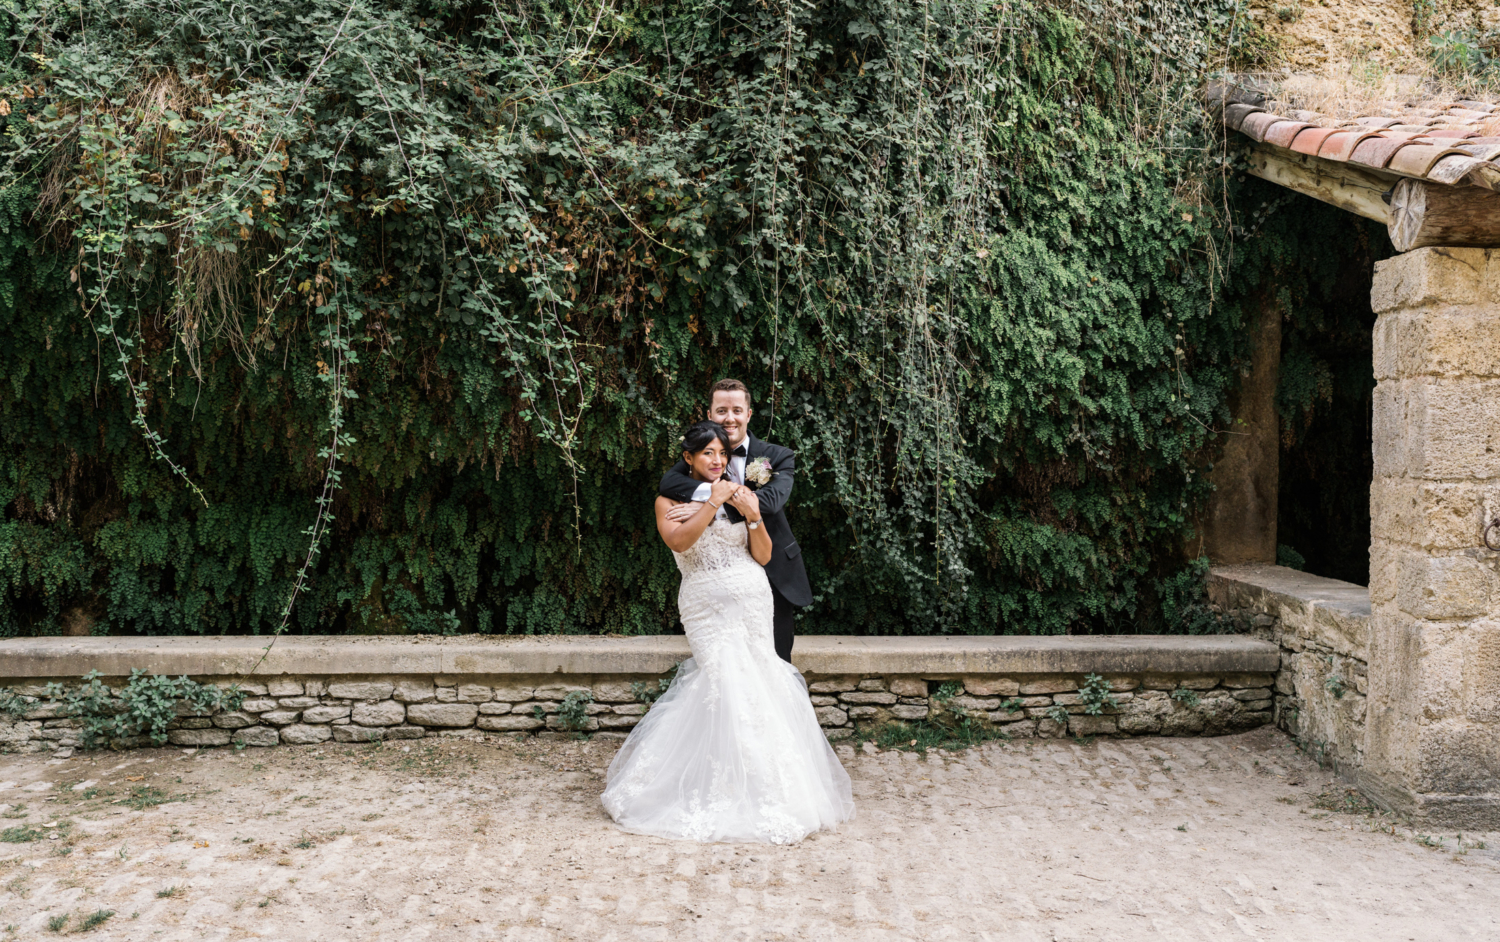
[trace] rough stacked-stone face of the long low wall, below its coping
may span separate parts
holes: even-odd
[[[1254,729],[1272,720],[1270,674],[1110,675],[1113,706],[1089,716],[1083,676],[808,678],[819,723],[831,740],[885,723],[969,717],[1010,736],[1215,735]],[[111,688],[118,692],[122,680]],[[309,746],[380,742],[424,736],[588,735],[624,738],[650,710],[658,678],[204,678],[237,686],[246,699],[236,711],[178,710],[168,728],[172,746]],[[80,722],[62,716],[45,684],[10,692],[33,699],[20,717],[0,716],[0,747],[57,752],[80,746]],[[576,708],[564,718],[564,704]],[[146,738],[114,747],[147,746]]]

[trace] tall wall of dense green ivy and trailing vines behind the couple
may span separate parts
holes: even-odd
[[[1192,98],[1233,3],[6,18],[0,634],[669,632],[724,375],[801,632],[1204,627],[1242,303],[1312,237]]]

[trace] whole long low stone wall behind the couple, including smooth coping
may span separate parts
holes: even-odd
[[[130,668],[238,684],[232,712],[180,711],[176,746],[374,742],[424,736],[579,734],[622,738],[660,678],[688,656],[652,639],[9,639],[0,747],[80,746],[80,723],[46,698],[90,669],[118,693]],[[795,657],[830,738],[885,723],[969,717],[1010,736],[1214,735],[1272,720],[1276,650],[1250,638],[800,639]],[[444,669],[432,669],[432,668]],[[423,669],[426,668],[426,669]],[[264,672],[254,672],[264,669]],[[1082,693],[1100,675],[1113,705]],[[572,700],[568,699],[572,694]],[[566,718],[570,712],[570,722]],[[144,742],[120,742],[141,746]]]

